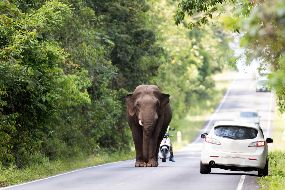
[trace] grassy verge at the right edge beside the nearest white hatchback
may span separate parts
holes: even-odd
[[[285,189],[285,144],[281,144],[285,130],[285,114],[279,115],[277,107],[274,109],[273,147],[269,154],[269,175],[260,177],[257,181],[262,189]]]

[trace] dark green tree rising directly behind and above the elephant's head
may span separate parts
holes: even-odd
[[[148,19],[150,9],[145,0],[94,1],[96,15],[104,15],[101,29],[114,42],[110,60],[118,68],[111,88],[134,91],[156,76],[163,50],[157,44],[156,26]]]

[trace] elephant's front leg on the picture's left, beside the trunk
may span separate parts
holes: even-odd
[[[133,127],[133,140],[136,149],[136,163],[135,167],[144,167],[143,159],[143,130],[139,127]]]

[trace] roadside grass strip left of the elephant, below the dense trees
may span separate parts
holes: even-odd
[[[0,173],[0,187],[24,183],[84,167],[97,166],[134,158],[135,151],[114,154],[100,153],[88,156],[87,158],[72,158],[71,160],[57,159],[56,161],[49,161],[46,159],[42,164],[24,166],[23,169],[17,169],[16,166],[11,166],[7,169],[2,169]]]

